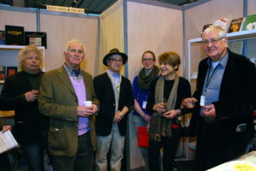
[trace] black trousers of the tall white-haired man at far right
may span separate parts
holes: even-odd
[[[200,118],[201,127],[198,129],[195,171],[214,168],[245,154],[250,131],[236,133],[235,128],[227,130],[227,127],[224,127],[225,124],[211,124]]]

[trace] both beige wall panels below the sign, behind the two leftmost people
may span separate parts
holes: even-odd
[[[5,10],[6,9],[6,10]],[[59,68],[64,64],[64,46],[71,39],[77,39],[86,48],[85,60],[81,68],[93,76],[98,75],[99,49],[99,17],[87,15],[66,14],[40,10],[37,26],[38,9],[5,7],[0,9],[0,30],[5,25],[24,27],[25,32],[46,32],[46,71]]]

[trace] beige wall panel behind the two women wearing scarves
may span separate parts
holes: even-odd
[[[183,63],[182,10],[168,9],[144,3],[127,2],[128,71],[131,82],[143,68],[143,52],[152,50],[157,58],[163,52],[175,51]],[[178,74],[183,75],[180,64]],[[158,61],[155,62],[159,66]],[[133,124],[130,126],[131,170],[143,166],[141,152],[137,147],[137,136]]]

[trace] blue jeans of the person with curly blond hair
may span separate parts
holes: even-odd
[[[44,171],[44,150],[48,151],[48,129],[41,131],[40,141],[35,144],[21,144],[27,162],[27,171]]]

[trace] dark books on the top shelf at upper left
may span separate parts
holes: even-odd
[[[24,27],[5,25],[5,31],[0,31],[0,44],[45,46],[46,32],[24,32]]]

